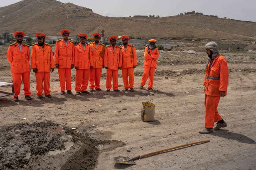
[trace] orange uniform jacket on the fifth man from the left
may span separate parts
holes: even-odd
[[[89,43],[89,45],[91,47],[91,53],[93,56],[93,68],[104,68],[105,45],[99,43],[98,48],[96,48],[96,44],[94,42]]]

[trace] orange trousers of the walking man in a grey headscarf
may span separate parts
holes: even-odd
[[[209,96],[205,94],[205,127],[213,128],[214,123],[222,118],[217,110],[220,96]]]

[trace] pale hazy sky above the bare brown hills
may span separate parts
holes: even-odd
[[[33,0],[31,0],[33,1]],[[202,12],[221,18],[256,22],[256,0],[59,0],[90,8],[93,12],[108,17],[133,17],[134,15],[178,15],[185,11]],[[19,0],[1,0],[4,7]]]

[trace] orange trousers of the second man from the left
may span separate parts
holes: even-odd
[[[37,72],[35,73],[35,80],[36,80],[36,95],[42,96],[43,95],[43,89],[45,92],[45,95],[48,95],[51,93],[50,90],[50,72]],[[43,86],[44,82],[44,86]]]

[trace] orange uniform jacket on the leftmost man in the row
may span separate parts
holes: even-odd
[[[11,73],[30,72],[29,45],[22,43],[22,52],[20,52],[17,42],[10,44],[7,51],[7,60],[11,63]]]

